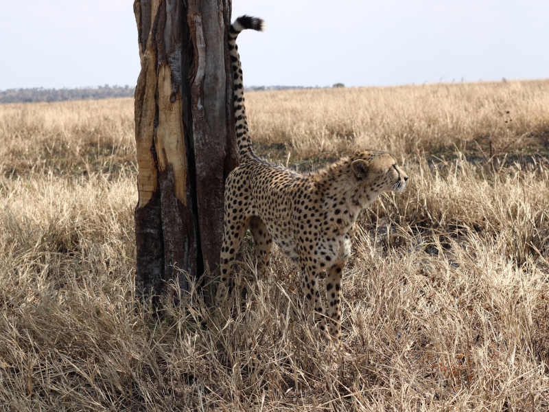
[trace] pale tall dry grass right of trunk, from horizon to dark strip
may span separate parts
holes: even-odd
[[[334,157],[361,148],[397,156],[496,152],[549,144],[549,80],[248,93],[255,141],[292,156]]]

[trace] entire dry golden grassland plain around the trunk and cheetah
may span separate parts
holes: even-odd
[[[277,250],[244,310],[133,295],[131,99],[0,106],[0,409],[549,410],[549,81],[248,93],[257,152],[410,176],[353,227],[343,345]],[[174,292],[180,293],[176,285]],[[237,306],[238,307],[238,306]]]

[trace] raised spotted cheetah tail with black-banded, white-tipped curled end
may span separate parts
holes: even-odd
[[[250,131],[248,130],[248,119],[246,119],[246,108],[244,106],[244,82],[242,80],[242,66],[236,38],[242,30],[263,30],[263,20],[257,17],[240,16],[229,29],[229,54],[231,56],[231,68],[233,69],[233,106],[235,108],[235,127],[238,146],[238,161],[253,155]]]

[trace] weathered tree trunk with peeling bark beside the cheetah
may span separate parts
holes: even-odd
[[[231,0],[135,0],[134,12],[141,58],[135,286],[158,304],[167,282],[189,290],[188,279],[218,266],[224,180],[236,165]]]

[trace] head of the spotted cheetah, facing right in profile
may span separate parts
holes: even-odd
[[[400,192],[406,187],[408,175],[388,153],[356,152],[350,160],[353,175],[367,198],[383,192]]]

